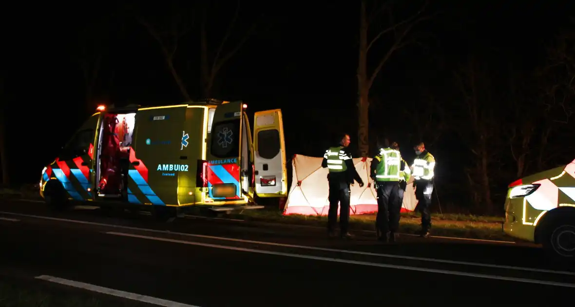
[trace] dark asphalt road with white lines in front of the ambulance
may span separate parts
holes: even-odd
[[[357,234],[341,241],[319,228],[207,218],[164,224],[4,201],[0,271],[199,307],[573,301],[575,270],[547,263],[532,245],[411,236],[379,244],[372,233]]]

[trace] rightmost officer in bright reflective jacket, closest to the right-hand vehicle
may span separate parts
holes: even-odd
[[[431,193],[433,193],[433,179],[435,158],[427,150],[423,142],[417,144],[415,147],[415,160],[411,166],[411,175],[415,181],[413,182],[413,189],[415,189],[415,198],[417,198],[417,210],[421,212],[421,237],[428,237],[431,230]]]

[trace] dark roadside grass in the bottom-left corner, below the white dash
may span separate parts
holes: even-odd
[[[127,299],[114,299],[71,291],[60,287],[28,285],[24,282],[9,283],[0,281],[0,306],[2,307],[144,307],[151,306],[143,302]],[[58,288],[58,289],[56,289]]]

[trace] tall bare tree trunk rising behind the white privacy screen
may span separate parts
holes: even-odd
[[[367,84],[367,14],[361,3],[358,63],[358,147],[362,157],[369,155],[369,85]]]

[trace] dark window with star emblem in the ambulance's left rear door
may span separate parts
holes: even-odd
[[[210,151],[217,158],[237,157],[240,152],[240,120],[219,122],[212,127]]]

